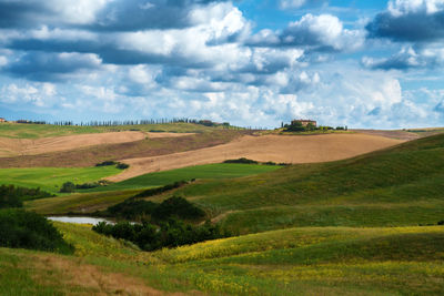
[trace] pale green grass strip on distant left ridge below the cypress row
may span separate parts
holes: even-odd
[[[1,123],[0,136],[12,139],[39,139],[50,136],[63,136],[74,134],[91,134],[105,132],[120,132],[138,130],[143,132],[163,131],[176,133],[201,133],[219,127],[209,127],[192,123],[164,123],[164,124],[140,124],[140,125],[120,125],[120,126],[58,126],[51,124],[20,124],[20,123]]]

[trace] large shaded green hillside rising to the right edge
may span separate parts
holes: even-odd
[[[345,161],[199,182],[179,193],[241,233],[435,224],[444,218],[443,167],[441,134]]]

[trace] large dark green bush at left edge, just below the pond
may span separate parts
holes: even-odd
[[[46,217],[14,208],[0,210],[0,246],[73,253]]]

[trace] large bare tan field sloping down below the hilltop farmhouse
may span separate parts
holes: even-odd
[[[119,182],[138,175],[191,165],[220,163],[248,157],[276,163],[313,163],[349,159],[404,141],[367,134],[243,136],[228,144],[162,156],[122,160],[130,164],[123,173],[109,177]]]

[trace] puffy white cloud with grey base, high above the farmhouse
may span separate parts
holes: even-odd
[[[362,47],[364,35],[359,30],[344,29],[331,14],[305,14],[291,22],[282,32],[262,30],[251,37],[252,47],[302,47],[321,51],[352,51]]]

